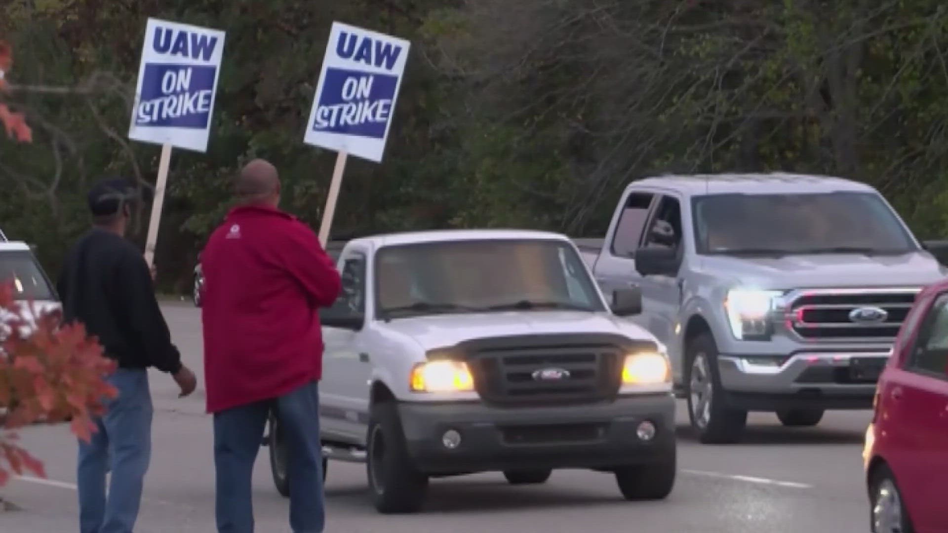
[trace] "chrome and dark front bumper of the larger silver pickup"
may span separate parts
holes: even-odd
[[[748,411],[871,409],[876,382],[888,361],[881,351],[798,352],[781,364],[770,356],[718,357],[725,402]]]

